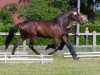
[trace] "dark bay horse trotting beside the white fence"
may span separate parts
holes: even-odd
[[[30,40],[29,48],[37,55],[40,55],[40,53],[34,49],[34,41],[37,36],[53,39],[55,49],[50,52],[49,55],[54,54],[58,50],[58,38],[61,37],[63,43],[71,52],[73,59],[77,59],[76,51],[66,36],[67,27],[71,21],[76,21],[81,24],[85,23],[81,15],[78,13],[77,8],[65,11],[51,20],[26,20],[24,22],[18,23],[10,29],[9,34],[5,40],[5,48],[8,48],[12,38],[14,37],[14,34],[19,30],[20,39],[14,45],[14,48],[11,52],[12,55],[14,55],[16,48],[27,38]]]

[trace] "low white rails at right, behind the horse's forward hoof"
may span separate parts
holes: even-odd
[[[100,52],[77,52],[78,57],[100,57]],[[64,53],[64,57],[72,57],[70,53]]]

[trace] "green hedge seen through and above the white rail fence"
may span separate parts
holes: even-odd
[[[89,31],[91,33],[93,31],[100,32],[100,29],[99,29],[100,25],[95,25],[95,24],[94,25],[92,25],[92,24],[90,24],[90,25],[81,25],[80,26],[80,32],[84,33],[86,27],[89,27]],[[9,29],[10,29],[10,27],[8,28],[8,27],[4,26],[4,28],[0,29],[0,31],[3,31],[3,30],[5,31],[5,30],[9,30]],[[15,44],[18,41],[18,38],[19,38],[19,36],[15,37],[13,39],[12,44]],[[75,45],[76,37],[75,36],[73,36],[73,37],[69,36],[69,38],[70,38],[71,43]],[[88,44],[92,44],[92,39],[93,39],[93,37],[89,36]],[[2,45],[4,43],[4,40],[5,40],[5,36],[0,36],[0,45]],[[27,41],[27,44],[28,43],[29,43],[29,41]],[[53,40],[49,39],[49,38],[39,38],[39,37],[37,37],[37,39],[35,40],[36,45],[46,45],[46,44],[51,44],[51,43],[53,43]],[[59,40],[59,43],[60,43],[60,40]],[[85,36],[80,36],[80,45],[82,45],[82,44],[83,45],[85,44]],[[100,36],[97,36],[97,44],[100,44]]]

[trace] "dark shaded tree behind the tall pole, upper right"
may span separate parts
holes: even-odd
[[[68,3],[71,7],[77,7],[78,0],[68,0]],[[81,0],[81,11],[84,14],[87,14],[90,22],[94,23],[94,2],[93,0]]]

